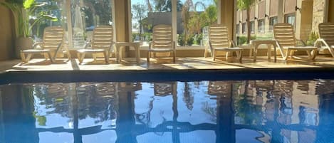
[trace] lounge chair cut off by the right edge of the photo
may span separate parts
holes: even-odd
[[[323,48],[328,49],[334,57],[334,23],[319,24],[319,38],[315,41],[315,46],[318,44],[323,44]]]

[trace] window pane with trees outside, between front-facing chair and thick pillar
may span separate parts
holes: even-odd
[[[203,28],[217,23],[217,3],[181,0],[177,9],[177,45],[202,46]]]

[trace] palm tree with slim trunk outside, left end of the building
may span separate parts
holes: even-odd
[[[250,15],[251,15],[251,6],[255,4],[256,0],[237,0],[237,6],[240,10],[246,10],[247,15],[247,43],[249,43],[251,39],[251,22]]]

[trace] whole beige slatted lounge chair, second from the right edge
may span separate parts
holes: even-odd
[[[305,44],[303,44],[304,46],[297,46],[297,41],[300,40],[296,39],[293,26],[290,23],[276,23],[273,26],[273,36],[284,60],[288,59],[289,55],[292,58],[295,51],[306,51],[310,60],[314,60],[317,54],[317,48],[314,46],[305,46]],[[285,54],[284,50],[286,50]]]

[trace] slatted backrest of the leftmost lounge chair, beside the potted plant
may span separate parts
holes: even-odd
[[[64,29],[61,26],[49,26],[44,29],[43,47],[45,49],[57,49],[64,41]]]

